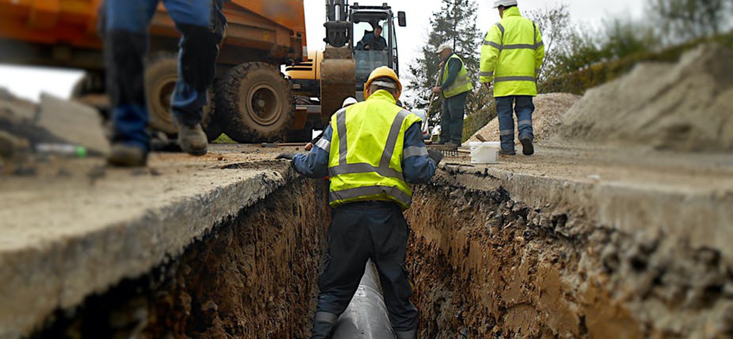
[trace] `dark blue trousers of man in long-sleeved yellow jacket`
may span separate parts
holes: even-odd
[[[512,107],[513,106],[513,107]],[[501,96],[496,98],[496,112],[499,118],[501,150],[514,151],[514,114],[517,114],[519,139],[534,140],[532,132],[532,96]]]

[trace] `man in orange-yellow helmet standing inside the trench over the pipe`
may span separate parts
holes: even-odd
[[[402,84],[388,67],[374,70],[366,101],[339,110],[310,153],[284,153],[309,178],[330,177],[328,257],[318,279],[320,295],[312,339],[330,338],[356,292],[367,259],[379,273],[391,326],[399,339],[416,338],[418,310],[405,267],[410,207],[408,183],[427,183],[443,158],[428,151],[421,120],[397,106]]]

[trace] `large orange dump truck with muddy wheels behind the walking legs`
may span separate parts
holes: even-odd
[[[84,69],[74,95],[103,99],[101,3],[0,0],[0,63]],[[310,134],[308,117],[296,116],[290,82],[280,72],[282,64],[307,59],[303,0],[232,0],[224,4],[224,15],[229,24],[203,123],[209,137],[226,132],[238,141],[262,142]],[[169,133],[177,131],[169,104],[178,38],[161,5],[150,26],[145,78],[150,124]]]

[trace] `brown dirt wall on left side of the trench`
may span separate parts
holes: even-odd
[[[323,182],[292,180],[32,338],[306,338],[330,214]]]

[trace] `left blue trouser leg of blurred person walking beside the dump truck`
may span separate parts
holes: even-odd
[[[149,148],[144,92],[147,27],[158,0],[107,0],[104,53],[114,122],[113,142]]]

